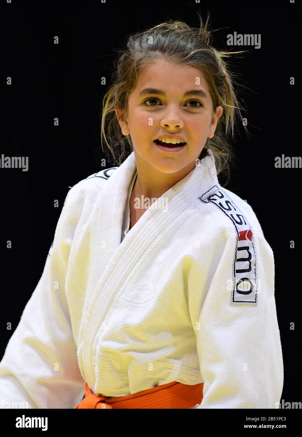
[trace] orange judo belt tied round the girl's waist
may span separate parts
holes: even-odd
[[[106,398],[94,395],[85,381],[85,398],[74,408],[191,408],[201,403],[203,385],[203,382],[187,385],[174,381],[133,395]]]

